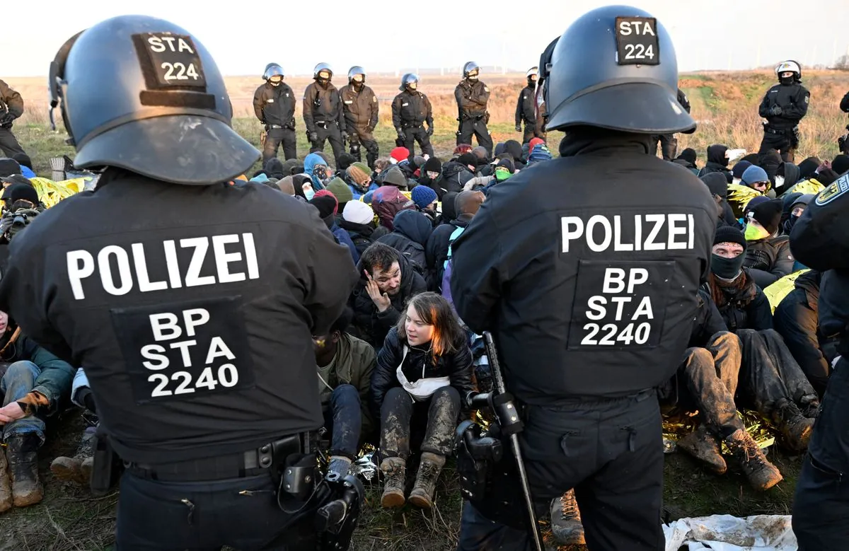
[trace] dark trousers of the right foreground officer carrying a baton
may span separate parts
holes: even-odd
[[[662,550],[663,441],[655,391],[525,411],[520,441],[535,509],[548,510],[552,499],[574,488],[590,551]],[[521,551],[531,542],[527,531],[464,503],[459,551]]]

